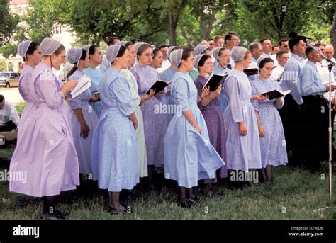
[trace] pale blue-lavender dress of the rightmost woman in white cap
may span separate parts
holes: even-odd
[[[254,79],[251,84],[252,95],[263,94],[267,91],[278,89],[282,91],[279,83],[274,80]],[[284,106],[284,98],[280,106],[274,100],[268,98],[264,101],[252,101],[254,111],[259,113],[260,124],[264,127],[266,135],[260,137],[260,149],[262,152],[262,168],[267,165],[279,166],[287,164],[286,140],[284,128],[277,109]]]

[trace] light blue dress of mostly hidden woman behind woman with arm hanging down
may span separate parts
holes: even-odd
[[[88,67],[83,70],[83,73],[89,76],[91,79],[91,93],[94,94],[96,92],[99,92],[99,82],[103,77],[103,73],[101,72],[101,70],[98,68]],[[91,102],[90,105],[92,106],[92,108],[94,108],[94,111],[99,118],[101,116],[101,101]]]

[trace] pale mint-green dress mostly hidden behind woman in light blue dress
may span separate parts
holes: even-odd
[[[143,127],[143,117],[140,108],[141,98],[138,95],[138,84],[135,80],[134,75],[128,69],[121,69],[121,77],[127,79],[128,84],[130,84],[130,93],[132,94],[132,101],[135,108],[135,115],[138,120],[138,128],[135,130],[135,136],[137,137],[137,154],[139,162],[139,176],[148,176],[147,171],[147,151],[146,151],[146,141],[145,141],[145,130]]]

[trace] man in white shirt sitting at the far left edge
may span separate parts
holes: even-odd
[[[11,120],[9,120],[10,116]],[[20,116],[15,106],[5,101],[4,96],[0,94],[0,132],[16,130],[18,123],[20,123]]]

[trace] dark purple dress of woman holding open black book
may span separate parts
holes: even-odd
[[[198,75],[195,80],[195,85],[198,91],[198,96],[201,96],[203,86],[206,84],[205,77]],[[220,111],[220,97],[215,97],[206,106],[202,103],[198,103],[198,107],[201,110],[204,120],[206,121],[206,127],[208,128],[209,139],[211,145],[215,147],[220,157],[225,160],[225,130],[223,113]],[[228,170],[226,166],[220,168],[220,177],[225,178],[228,176]],[[215,183],[217,180],[208,181],[206,183]]]

